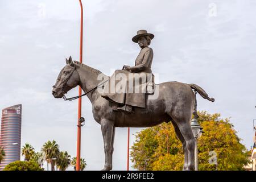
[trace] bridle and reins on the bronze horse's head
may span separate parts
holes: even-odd
[[[63,68],[63,69],[64,69],[64,68]],[[61,73],[63,72],[63,69],[61,70],[60,75],[57,77],[57,81],[60,80],[60,76],[61,76]],[[67,84],[69,78],[71,77],[71,75],[73,74],[73,72],[75,71],[75,69],[76,69],[76,68],[73,67],[72,71],[71,71],[70,73],[68,73],[67,76],[65,76],[63,82],[61,82],[61,84],[60,84],[59,87],[57,87],[57,86],[55,86],[55,85],[52,86],[53,88],[59,89],[59,90],[61,91],[61,93],[63,94],[63,97],[62,97],[62,98],[64,99],[64,101],[73,101],[73,100],[76,100],[77,98],[80,98],[80,97],[82,97],[82,96],[86,96],[86,94],[88,94],[89,92],[92,92],[94,89],[97,89],[98,86],[100,86],[100,85],[104,84],[105,82],[109,81],[109,80],[106,80],[106,81],[102,82],[100,85],[95,86],[94,88],[90,89],[88,92],[85,92],[85,93],[82,94],[81,96],[76,96],[76,97],[67,98],[67,97],[65,96],[65,94],[66,94],[67,92],[66,92],[65,90],[63,90],[63,88],[64,88],[64,86],[66,86],[66,84]]]

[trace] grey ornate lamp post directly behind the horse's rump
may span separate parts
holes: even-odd
[[[197,139],[201,137],[202,133],[204,133],[203,131],[203,127],[201,127],[199,125],[199,123],[197,122],[197,119],[199,118],[199,115],[197,114],[197,101],[196,101],[196,94],[197,92],[195,92],[195,107],[193,110],[193,115],[194,118],[191,121],[191,128],[193,131],[193,135],[196,139],[196,146],[195,146],[195,171],[198,171],[198,148],[197,148]]]

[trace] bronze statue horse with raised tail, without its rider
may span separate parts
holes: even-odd
[[[208,94],[195,84],[181,82],[163,82],[158,86],[159,96],[155,100],[146,100],[146,108],[136,107],[134,113],[125,114],[117,109],[118,105],[101,97],[97,85],[101,82],[98,75],[103,74],[77,61],[66,59],[67,65],[61,70],[52,94],[55,98],[64,97],[72,88],[80,85],[92,102],[93,117],[101,125],[104,139],[105,167],[102,170],[112,169],[112,155],[114,151],[115,127],[151,127],[163,122],[171,121],[177,137],[183,144],[184,167],[183,170],[195,169],[195,138],[191,129],[191,117],[195,104],[196,90],[203,98],[214,101]],[[109,76],[104,75],[109,78]],[[154,93],[155,94],[155,93]]]

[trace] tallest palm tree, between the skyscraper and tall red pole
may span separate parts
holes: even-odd
[[[59,145],[55,142],[55,140],[52,140],[52,142],[48,140],[48,142],[44,143],[41,151],[44,154],[47,164],[51,163],[52,171],[55,171],[55,160],[53,160],[53,158],[56,159],[59,156]]]

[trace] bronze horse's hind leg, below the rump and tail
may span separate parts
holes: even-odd
[[[182,112],[181,112],[182,113]],[[183,113],[184,114],[184,113]],[[193,132],[191,129],[190,121],[192,113],[184,114],[182,116],[177,117],[180,113],[173,114],[172,119],[176,123],[177,127],[183,138],[185,139],[185,145],[188,152],[188,161],[187,161],[187,170],[195,170],[195,146],[196,139],[193,136]],[[187,117],[185,116],[187,115]],[[190,115],[190,116],[189,116]]]

